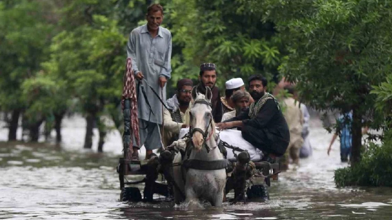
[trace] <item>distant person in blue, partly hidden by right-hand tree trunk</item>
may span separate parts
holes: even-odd
[[[336,137],[340,138],[340,160],[341,162],[348,162],[348,156],[351,158],[351,147],[352,147],[352,112],[342,114],[337,120],[338,129],[334,133],[332,140],[328,147],[328,155],[331,151],[332,144],[335,142]],[[362,130],[362,134],[367,133],[368,128],[365,127]]]

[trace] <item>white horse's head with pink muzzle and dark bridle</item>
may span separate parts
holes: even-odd
[[[201,150],[203,143],[215,132],[212,128],[214,123],[212,120],[211,98],[212,92],[206,87],[206,94],[197,92],[196,87],[192,89],[193,104],[190,111],[190,132],[192,135],[192,143],[196,150]]]

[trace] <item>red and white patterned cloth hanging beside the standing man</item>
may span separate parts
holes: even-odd
[[[139,136],[139,119],[138,119],[138,101],[136,98],[136,87],[135,87],[135,78],[132,70],[132,60],[131,58],[127,58],[127,64],[125,65],[125,75],[124,75],[124,87],[123,94],[121,99],[121,107],[124,110],[124,101],[125,99],[131,100],[131,136],[132,133],[136,139],[137,146],[140,145],[140,136]],[[129,153],[132,155],[133,153],[133,142],[132,138],[129,142]]]

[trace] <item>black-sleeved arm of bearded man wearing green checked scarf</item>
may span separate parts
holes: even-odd
[[[275,100],[268,99],[264,106],[261,107],[256,119],[245,119],[242,122],[244,125],[249,125],[255,128],[265,128],[265,126],[269,123],[269,121],[271,121],[272,117],[278,111],[279,109],[275,104]]]

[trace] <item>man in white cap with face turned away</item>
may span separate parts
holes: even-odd
[[[236,105],[230,97],[237,90],[245,90],[245,83],[241,78],[233,78],[226,81],[225,97],[221,97],[223,114],[236,110]]]

